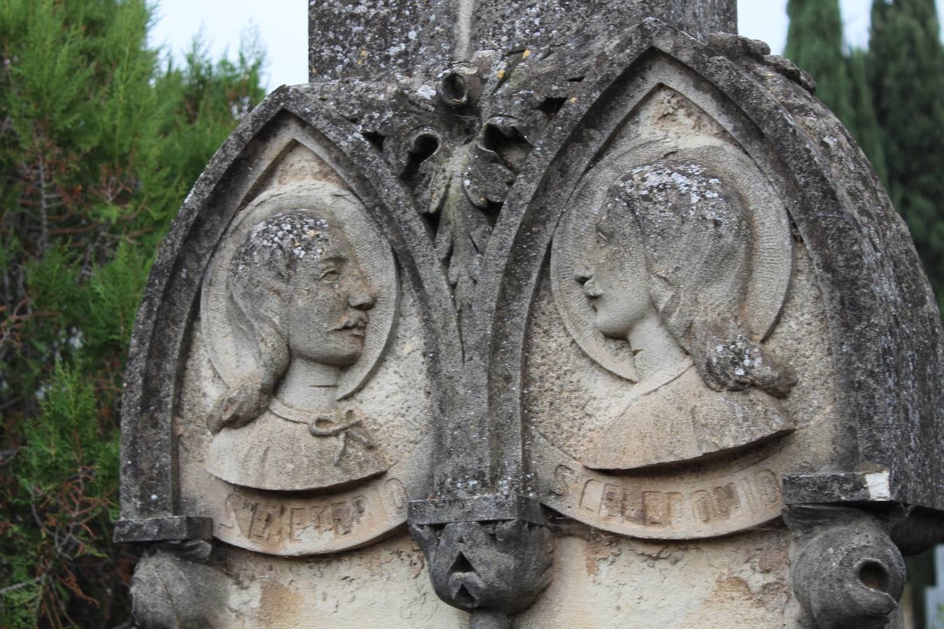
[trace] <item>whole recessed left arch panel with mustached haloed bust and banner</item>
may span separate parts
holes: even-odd
[[[386,237],[329,154],[291,123],[273,143],[204,277],[181,493],[216,538],[329,553],[402,524],[422,485],[425,342]]]

